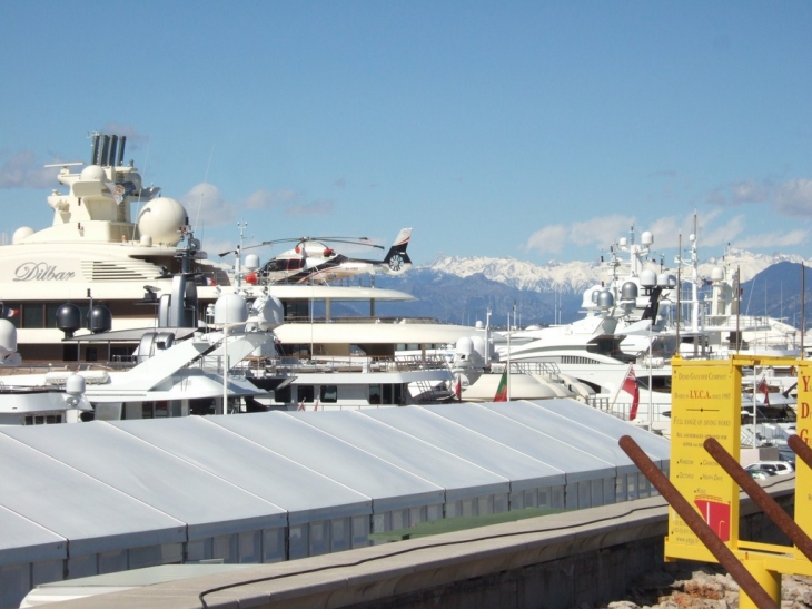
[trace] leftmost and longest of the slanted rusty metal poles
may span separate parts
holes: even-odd
[[[648,455],[645,454],[643,449],[630,435],[624,435],[617,443],[623,449],[623,452],[637,465],[637,469],[640,469],[643,475],[648,479],[680,518],[683,519],[699,540],[705,544],[719,563],[736,580],[742,591],[750,597],[755,606],[759,609],[779,609],[776,600],[764,590],[731,549],[719,539],[716,533],[713,532],[713,529],[707,525],[707,522],[680,494],[680,491],[674,488],[665,474],[648,459]]]

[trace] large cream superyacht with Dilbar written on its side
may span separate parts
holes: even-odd
[[[51,226],[17,228],[11,244],[0,246],[2,312],[17,326],[18,350],[29,363],[129,357],[140,341],[136,331],[155,327],[158,308],[171,298],[174,275],[182,272],[194,279],[185,294],[176,296],[198,303],[198,311],[191,312],[195,320],[204,320],[207,307],[220,295],[240,289],[240,271],[257,275],[257,267],[242,263],[240,268],[239,259],[231,268],[207,258],[184,206],[162,196],[159,187],[145,184],[132,160],[125,163],[126,136],[92,134],[91,140],[89,165],[50,166],[59,168],[57,178],[68,188],[67,193],[55,189],[48,197],[53,210]],[[241,287],[255,295],[270,292],[283,302],[285,322],[291,327],[278,340],[286,353],[297,355],[303,351],[307,355],[349,355],[351,343],[362,340],[357,332],[355,340],[348,340],[351,332],[336,332],[333,324],[316,324],[314,330],[313,321],[336,321],[330,310],[334,302],[368,303],[365,321],[369,325],[376,321],[376,303],[414,299],[403,292],[372,286],[285,285],[261,277],[259,285],[244,282]],[[59,327],[57,313],[66,303],[79,307],[81,327]],[[126,334],[107,343],[81,340],[101,331],[89,327],[99,304],[109,310],[111,330],[132,331],[129,340]],[[320,320],[314,315],[316,307]],[[307,328],[290,323],[297,321],[307,322]],[[405,342],[425,344],[430,336],[453,343],[471,333],[471,328],[459,327],[438,332],[437,324],[433,326],[433,332],[420,332],[425,324],[410,325],[413,338]],[[394,353],[390,335],[377,337],[367,328],[364,336],[368,345],[377,345],[368,346],[368,354]]]

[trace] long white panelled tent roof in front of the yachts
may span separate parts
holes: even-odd
[[[0,564],[178,543],[634,472],[574,400],[0,428]]]

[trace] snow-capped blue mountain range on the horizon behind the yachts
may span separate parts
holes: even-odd
[[[812,263],[799,256],[766,256],[730,249],[724,257],[701,263],[700,275],[710,277],[711,269],[716,266],[725,268],[727,276],[739,271],[743,289],[742,313],[766,313],[800,325],[801,263],[804,262],[808,267],[806,302],[812,303],[812,275],[809,275]],[[683,273],[689,272],[683,269]],[[491,323],[505,325],[515,303],[522,326],[568,323],[582,316],[584,292],[610,279],[607,265],[598,262],[552,261],[539,266],[515,258],[443,255],[398,277],[376,276],[377,287],[398,289],[417,298],[416,302],[376,303],[376,313],[382,316],[435,317],[443,322],[473,325],[476,321],[484,322],[489,308]]]

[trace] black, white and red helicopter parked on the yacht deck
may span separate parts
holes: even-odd
[[[402,228],[383,259],[351,258],[337,253],[328,243],[364,245],[384,249],[384,246],[368,243],[367,237],[301,237],[263,242],[258,246],[279,243],[295,243],[293,249],[271,258],[256,272],[246,276],[247,283],[259,284],[305,284],[329,283],[359,274],[399,275],[412,266],[406,247],[412,237],[412,228]]]

